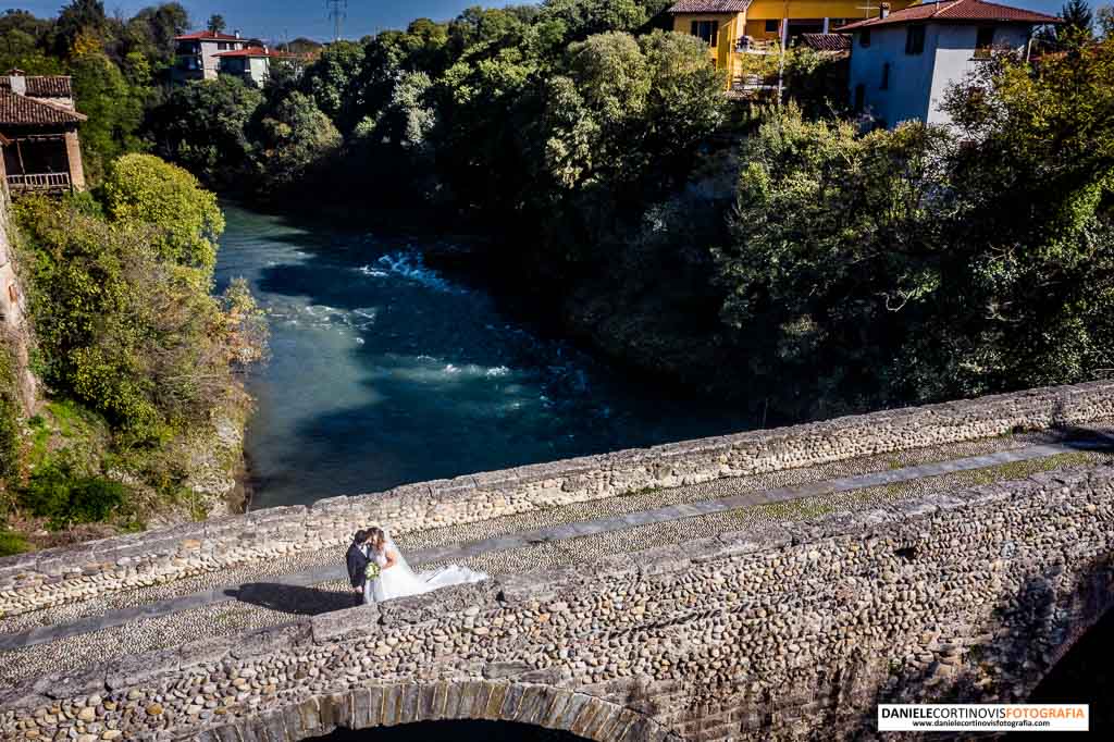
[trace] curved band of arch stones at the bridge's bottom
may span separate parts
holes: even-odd
[[[338,729],[424,721],[506,721],[571,732],[593,742],[680,742],[643,714],[597,696],[537,683],[442,681],[325,693],[207,730],[206,742],[299,742]]]

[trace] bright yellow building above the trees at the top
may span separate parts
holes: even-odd
[[[776,53],[779,42],[792,45],[801,33],[828,33],[844,23],[872,18],[881,6],[901,10],[916,0],[680,0],[672,8],[673,30],[697,36],[709,45],[717,69],[727,70],[727,86],[740,84],[747,68],[743,55]]]

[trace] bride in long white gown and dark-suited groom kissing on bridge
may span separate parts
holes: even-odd
[[[458,565],[416,573],[387,531],[379,527],[355,531],[346,562],[349,580],[363,603],[421,595],[450,585],[482,582],[488,577]]]

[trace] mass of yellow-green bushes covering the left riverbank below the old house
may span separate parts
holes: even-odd
[[[243,414],[265,321],[243,281],[211,295],[216,199],[150,155],[111,163],[91,195],[22,198],[14,222],[51,401],[13,459],[27,469],[0,472],[7,506],[51,529],[133,528],[141,502],[179,496],[174,451]]]

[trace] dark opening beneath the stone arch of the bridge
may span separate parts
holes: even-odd
[[[375,728],[360,731],[336,730],[307,742],[585,742],[571,732],[530,724],[490,721],[441,721]]]

